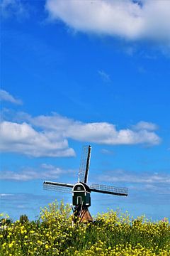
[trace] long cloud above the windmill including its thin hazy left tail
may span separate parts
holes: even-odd
[[[149,144],[156,145],[161,142],[152,129],[156,129],[156,124],[149,122],[140,122],[135,129],[118,130],[114,124],[108,122],[84,123],[62,117],[58,114],[53,116],[38,116],[31,118],[30,123],[52,129],[62,134],[65,138],[75,139],[80,142],[94,142],[97,144]],[[145,125],[144,125],[145,124]]]

